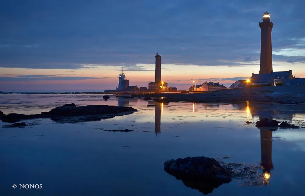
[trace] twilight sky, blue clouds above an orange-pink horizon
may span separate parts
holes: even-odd
[[[1,0],[0,90],[88,92],[162,80],[229,87],[260,68],[271,15],[273,71],[305,77],[304,0]]]

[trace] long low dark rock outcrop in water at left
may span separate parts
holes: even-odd
[[[75,105],[75,104],[74,104]],[[137,109],[125,106],[111,106],[111,105],[87,105],[87,106],[60,106],[51,109],[49,112],[42,112],[40,114],[15,114],[11,113],[2,117],[3,122],[18,122],[20,120],[34,119],[34,118],[51,118],[51,120],[69,122],[84,122],[84,121],[98,121],[106,118],[113,118],[114,116],[122,116],[137,111]]]

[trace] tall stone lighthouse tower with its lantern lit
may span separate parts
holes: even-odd
[[[270,14],[263,14],[263,22],[260,22],[260,72],[259,74],[270,73],[272,70],[272,46],[271,46],[271,30],[273,22],[270,22]]]

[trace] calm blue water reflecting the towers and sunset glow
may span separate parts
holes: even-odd
[[[304,106],[170,103],[102,95],[0,95],[5,113],[35,114],[76,105],[124,105],[137,112],[86,123],[35,119],[25,128],[0,128],[0,195],[203,195],[163,170],[164,161],[206,156],[264,165],[266,186],[232,181],[208,195],[304,195],[305,130],[260,130],[260,117],[304,125]],[[0,122],[0,127],[9,123]],[[133,129],[134,132],[106,132]],[[128,146],[128,147],[126,147]],[[12,185],[16,184],[16,189]],[[42,184],[42,189],[19,189]]]

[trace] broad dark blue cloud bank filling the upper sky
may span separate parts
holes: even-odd
[[[154,64],[156,51],[163,64],[259,65],[265,6],[274,22],[274,51],[303,49],[305,42],[303,0],[13,2],[0,6],[0,67],[6,68],[151,71],[136,65]],[[305,55],[292,56],[299,57],[273,59],[305,62]]]

